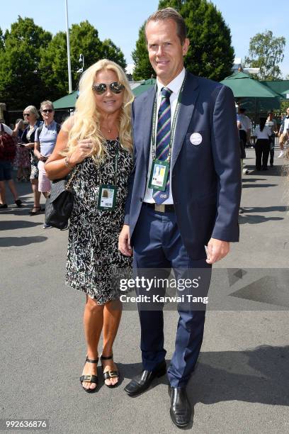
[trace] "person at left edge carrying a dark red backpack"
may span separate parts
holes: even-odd
[[[12,162],[16,155],[16,137],[19,129],[19,123],[16,124],[15,129],[0,124],[0,209],[8,208],[6,204],[5,181],[13,194],[14,201],[18,207],[21,206],[22,201],[18,197],[15,184],[12,179]]]

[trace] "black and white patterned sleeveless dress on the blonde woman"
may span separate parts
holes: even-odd
[[[107,140],[108,155],[101,167],[91,157],[74,169],[72,180],[74,208],[70,218],[65,283],[84,291],[98,304],[119,296],[112,276],[119,269],[130,269],[132,259],[118,250],[118,235],[123,227],[128,177],[133,157],[118,140]],[[98,210],[100,184],[115,184],[115,155],[118,152],[118,187],[113,211]]]

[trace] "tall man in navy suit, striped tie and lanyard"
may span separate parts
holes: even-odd
[[[157,86],[135,99],[132,128],[135,170],[130,180],[119,248],[135,269],[203,270],[208,294],[212,264],[239,240],[239,140],[232,91],[183,67],[189,47],[183,18],[157,11],[145,27]],[[208,245],[207,254],[205,245]],[[181,270],[181,271],[180,271]],[[149,271],[148,271],[149,273]],[[205,308],[179,307],[174,355],[168,369],[171,419],[188,425],[186,384],[203,340]],[[162,308],[142,308],[143,371],[125,387],[134,396],[166,373]]]

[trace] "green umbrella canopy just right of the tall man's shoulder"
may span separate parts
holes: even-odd
[[[280,98],[281,95],[244,72],[236,72],[221,82],[232,89],[235,98]]]

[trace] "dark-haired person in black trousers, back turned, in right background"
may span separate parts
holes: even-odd
[[[256,170],[268,170],[271,130],[266,126],[266,118],[260,118],[260,125],[255,128],[253,135],[257,138],[255,145]]]

